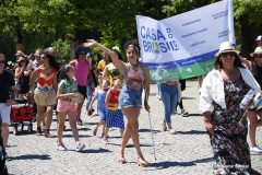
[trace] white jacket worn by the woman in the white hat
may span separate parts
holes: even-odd
[[[239,68],[243,81],[255,91],[260,91],[261,88],[259,83],[253,78],[252,73],[246,68]],[[219,70],[213,69],[204,78],[204,81],[201,86],[201,95],[199,103],[199,110],[201,114],[204,112],[213,112],[214,106],[212,102],[217,103],[223,108],[226,108],[225,101],[225,91],[224,91],[224,81]]]

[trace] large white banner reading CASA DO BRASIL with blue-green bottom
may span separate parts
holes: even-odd
[[[195,77],[209,72],[219,44],[235,44],[233,2],[219,1],[156,21],[136,15],[142,61],[153,82]]]

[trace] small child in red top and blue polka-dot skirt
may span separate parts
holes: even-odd
[[[106,96],[107,115],[106,115],[106,128],[103,142],[108,143],[108,130],[110,127],[120,128],[122,137],[124,122],[121,109],[118,108],[118,97],[120,94],[121,80],[116,78],[112,80],[112,86],[108,90]]]

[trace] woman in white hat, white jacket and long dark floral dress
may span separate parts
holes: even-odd
[[[214,174],[254,174],[247,143],[248,124],[239,107],[250,89],[260,90],[229,42],[221,44],[215,69],[204,79],[200,112],[214,153]]]

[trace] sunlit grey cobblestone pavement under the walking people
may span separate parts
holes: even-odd
[[[155,97],[156,85],[152,85],[150,104],[152,106],[152,125],[155,141],[156,161],[152,147],[148,114],[142,110],[140,117],[140,139],[145,159],[150,167],[139,167],[135,164],[135,150],[130,141],[126,151],[127,164],[117,163],[117,151],[121,139],[117,129],[109,131],[109,144],[100,142],[99,137],[92,136],[92,127],[96,117],[83,116],[84,125],[80,126],[80,137],[86,149],[82,153],[74,152],[74,141],[69,129],[64,131],[63,142],[68,151],[56,150],[57,138],[46,139],[24,132],[10,136],[8,153],[10,174],[22,175],[210,175],[212,174],[212,150],[209,137],[203,128],[202,117],[198,112],[198,83],[187,81],[183,92],[183,103],[190,117],[172,116],[172,125],[177,135],[160,131],[159,119],[163,116],[163,104]],[[68,124],[67,124],[68,125]],[[51,135],[56,133],[56,121],[52,122]],[[36,128],[34,124],[34,129]],[[67,127],[69,128],[69,126]],[[11,128],[12,129],[12,128]],[[98,136],[100,131],[98,131]],[[258,142],[262,143],[262,129],[258,130]],[[252,154],[252,166],[262,173],[262,154]]]

